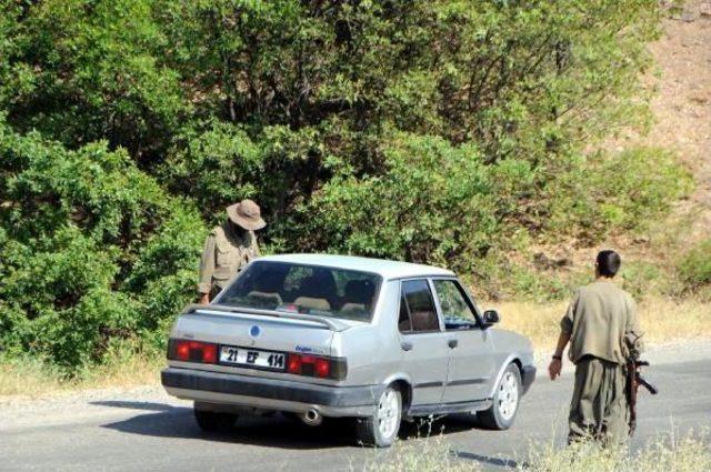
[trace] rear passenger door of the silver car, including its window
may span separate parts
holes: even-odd
[[[398,330],[403,368],[412,380],[412,404],[440,403],[449,348],[428,280],[401,282]]]

